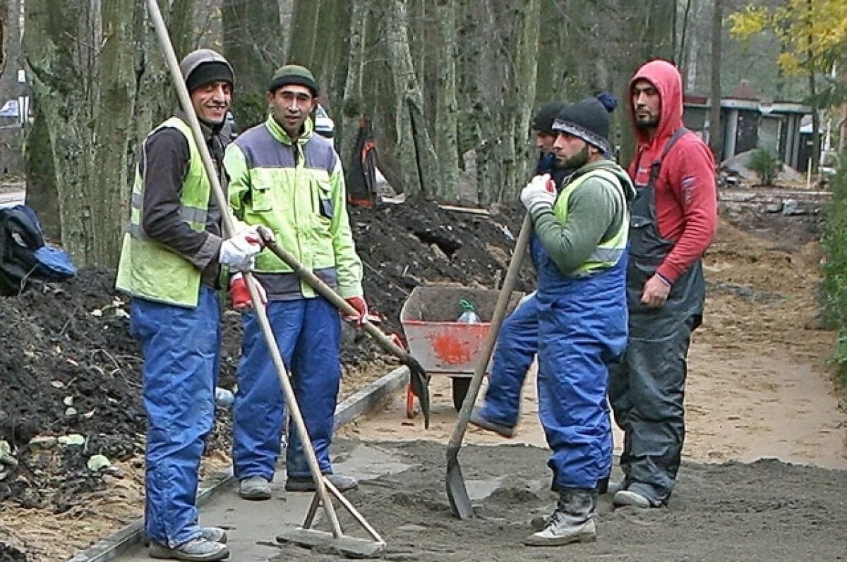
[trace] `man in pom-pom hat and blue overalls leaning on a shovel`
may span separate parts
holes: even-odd
[[[595,540],[597,485],[608,476],[612,435],[608,366],[627,343],[626,172],[607,159],[609,114],[597,98],[568,104],[553,150],[573,171],[561,189],[548,174],[521,192],[533,219],[538,273],[539,417],[552,449],[556,509],[530,546]]]

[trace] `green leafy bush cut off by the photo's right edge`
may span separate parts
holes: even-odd
[[[844,162],[844,158],[841,159]],[[847,167],[842,166],[832,182],[833,199],[823,229],[823,290],[826,314],[839,332],[833,361],[841,382],[847,385]]]

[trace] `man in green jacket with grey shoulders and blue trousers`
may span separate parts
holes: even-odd
[[[280,245],[365,317],[362,262],[347,217],[340,158],[329,140],[314,134],[309,118],[317,96],[308,69],[288,64],[274,74],[268,120],[227,147],[230,205],[246,223],[273,230]],[[342,491],[357,488],[356,479],[335,474],[329,460],[340,383],[339,311],[269,251],[257,259],[256,278],[266,289],[268,317],[321,471]],[[246,311],[243,322],[233,405],[235,477],[242,498],[269,499],[285,400],[255,313]],[[293,424],[286,471],[286,490],[315,489]]]

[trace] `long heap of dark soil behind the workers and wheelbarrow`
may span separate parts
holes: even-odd
[[[507,233],[517,234],[521,218],[517,207],[491,218],[425,201],[351,214],[368,301],[385,316],[385,330],[399,333],[400,308],[416,285],[493,286],[513,245]],[[141,356],[130,335],[129,302],[113,282],[111,271],[84,269],[66,284],[36,285],[0,300],[0,439],[17,460],[0,465],[0,502],[62,513],[80,494],[102,488],[104,476],[114,476],[89,470],[93,455],[114,462],[143,454]],[[224,388],[235,383],[240,344],[239,315],[226,311]],[[342,360],[347,372],[363,372],[387,358],[357,334],[345,340]],[[355,378],[346,384],[354,386]],[[209,449],[227,449],[229,417],[219,411]],[[57,444],[72,434],[84,441]]]

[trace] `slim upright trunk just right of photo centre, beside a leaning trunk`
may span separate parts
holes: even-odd
[[[456,95],[458,58],[456,7],[451,0],[438,0],[436,9],[440,32],[435,117],[435,139],[440,169],[440,185],[437,193],[442,201],[458,201],[460,195],[457,141],[459,104]]]

